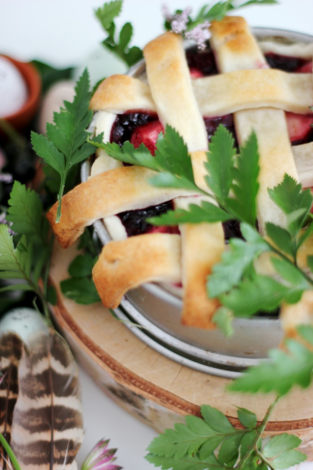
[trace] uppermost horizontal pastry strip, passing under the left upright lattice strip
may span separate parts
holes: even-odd
[[[114,88],[117,95],[125,95],[119,112],[135,109],[135,104],[141,105],[137,109],[155,111],[148,85],[131,77],[124,84],[119,75],[114,77],[110,77],[109,82],[105,80],[92,98],[94,110],[99,109],[99,103],[103,110],[113,109],[111,88]],[[113,87],[114,80],[116,84]],[[207,117],[267,106],[307,114],[308,106],[313,103],[310,73],[287,73],[276,69],[237,70],[197,78],[191,81],[191,86],[200,114]]]

